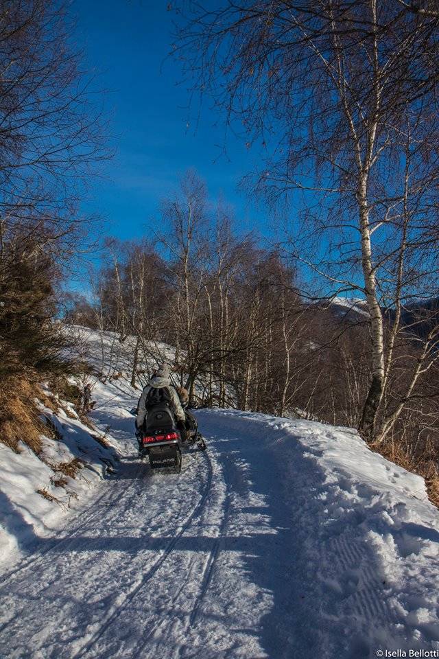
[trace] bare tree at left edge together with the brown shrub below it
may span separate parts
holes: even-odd
[[[62,361],[60,281],[92,229],[78,200],[108,156],[72,29],[67,3],[1,3],[0,354],[27,378]]]

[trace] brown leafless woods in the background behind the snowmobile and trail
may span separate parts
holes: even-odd
[[[112,371],[117,344],[134,337],[132,386],[149,380],[145,364],[165,358],[174,384],[189,389],[195,406],[358,426],[372,372],[364,305],[349,310],[331,297],[307,299],[297,259],[237,232],[230,211],[209,205],[206,187],[193,172],[161,212],[163,233],[149,241],[108,242],[93,299],[73,299],[69,307],[69,323],[115,337]],[[396,400],[412,382],[410,360],[419,361],[418,344],[426,345],[432,317],[425,309],[407,312],[404,322],[417,334],[414,329],[394,347],[399,372],[389,395]],[[385,312],[383,318],[387,338],[395,319]],[[171,358],[163,344],[175,349]],[[423,463],[429,473],[436,468],[439,430],[436,375],[431,357],[412,403],[380,442],[385,454],[412,468]]]

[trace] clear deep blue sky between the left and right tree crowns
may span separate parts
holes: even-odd
[[[224,126],[204,106],[189,111],[189,95],[178,85],[176,62],[165,59],[172,41],[172,14],[166,0],[74,0],[78,43],[85,64],[105,90],[110,117],[110,145],[115,158],[103,178],[92,179],[86,211],[108,220],[108,233],[126,240],[156,227],[161,198],[176,188],[178,176],[194,167],[206,180],[209,195],[220,194],[235,209],[243,231],[267,232],[263,209],[237,191],[239,178],[252,168],[257,154],[228,135],[228,157],[222,154]],[[220,122],[219,122],[220,123]]]

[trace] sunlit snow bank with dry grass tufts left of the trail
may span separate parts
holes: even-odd
[[[38,456],[23,442],[18,454],[0,443],[0,566],[18,561],[41,537],[54,533],[70,513],[84,505],[93,487],[115,471],[114,440],[105,431],[85,426],[71,404],[62,404],[64,409],[56,414],[38,404],[41,418],[60,438],[43,435]],[[64,473],[72,461],[74,478]]]

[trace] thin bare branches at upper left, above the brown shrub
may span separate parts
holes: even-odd
[[[3,3],[0,19],[3,231],[44,229],[49,245],[62,238],[71,252],[86,177],[93,162],[108,156],[99,110],[91,103],[93,83],[71,46],[67,4]]]

